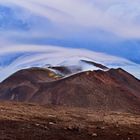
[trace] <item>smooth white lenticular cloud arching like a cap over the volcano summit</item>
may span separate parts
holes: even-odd
[[[4,80],[12,73],[30,67],[44,67],[46,65],[75,65],[79,60],[90,60],[109,67],[137,66],[123,58],[97,53],[86,49],[71,49],[59,46],[14,45],[1,48],[0,80]]]

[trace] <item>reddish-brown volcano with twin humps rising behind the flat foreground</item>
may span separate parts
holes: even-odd
[[[2,82],[0,99],[134,112],[140,111],[140,81],[120,68],[65,78],[34,68],[21,70]]]

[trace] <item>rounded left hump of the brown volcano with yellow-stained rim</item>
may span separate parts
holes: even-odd
[[[0,84],[1,99],[17,100],[18,98],[19,101],[28,101],[38,91],[38,83],[54,81],[59,77],[61,76],[43,68],[20,70]],[[17,92],[20,94],[16,94]]]

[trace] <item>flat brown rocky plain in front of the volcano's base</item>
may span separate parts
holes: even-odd
[[[140,114],[0,103],[0,140],[139,140]]]

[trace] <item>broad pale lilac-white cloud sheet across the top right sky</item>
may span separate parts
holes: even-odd
[[[125,38],[140,36],[139,0],[0,0],[13,3],[64,27],[99,28]]]

